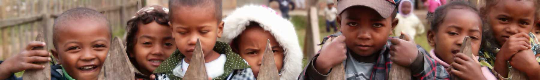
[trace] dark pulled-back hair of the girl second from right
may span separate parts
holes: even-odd
[[[446,14],[451,9],[467,9],[478,14],[478,17],[480,17],[480,13],[478,12],[478,10],[476,9],[474,5],[471,5],[463,1],[452,1],[446,5],[439,6],[435,10],[435,13],[433,13],[434,16],[429,18],[429,21],[431,23],[429,25],[431,31],[437,32],[438,26],[440,26],[443,23],[444,18],[446,17]]]

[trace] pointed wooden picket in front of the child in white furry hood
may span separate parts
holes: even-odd
[[[262,64],[259,69],[258,80],[278,80],[278,68],[275,66],[274,53],[272,53],[270,40],[266,41],[265,53],[262,55]]]

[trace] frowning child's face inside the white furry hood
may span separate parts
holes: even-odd
[[[244,30],[244,32],[238,36],[238,41],[236,41],[238,43],[234,44],[237,46],[237,53],[247,61],[249,66],[251,66],[253,75],[255,75],[255,77],[257,77],[259,74],[262,55],[265,53],[267,39],[270,39],[272,52],[274,52],[275,66],[278,68],[278,70],[281,70],[285,50],[279,46],[279,43],[275,40],[272,34],[263,30],[262,27],[247,27],[246,30]]]

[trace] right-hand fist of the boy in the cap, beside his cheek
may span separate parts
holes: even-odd
[[[408,37],[408,35],[406,36]],[[419,54],[416,45],[411,41],[397,38],[392,38],[390,42],[392,42],[392,46],[390,46],[390,60],[400,66],[409,67]]]

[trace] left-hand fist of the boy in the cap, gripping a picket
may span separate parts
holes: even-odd
[[[331,42],[330,42],[331,40]],[[347,58],[347,47],[345,45],[345,36],[340,35],[335,39],[326,40],[322,46],[319,57],[315,61],[315,69],[321,73],[328,71],[338,64],[342,63]]]

